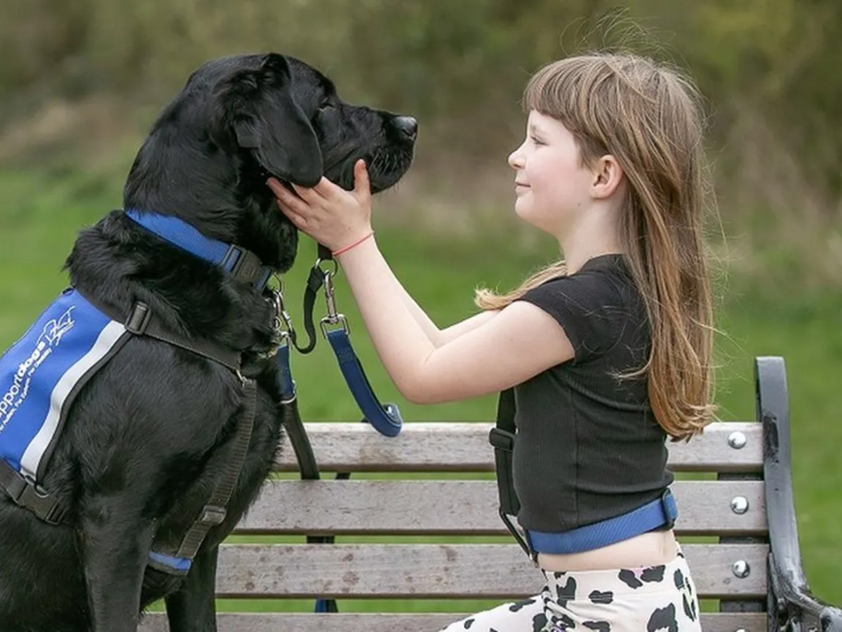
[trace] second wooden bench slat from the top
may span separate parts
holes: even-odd
[[[676,481],[683,534],[767,531],[763,482]],[[743,496],[749,510],[731,509]],[[237,533],[505,535],[491,480],[271,480]]]

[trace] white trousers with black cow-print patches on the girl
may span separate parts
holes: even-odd
[[[699,601],[680,550],[666,565],[543,574],[541,594],[441,632],[701,632]]]

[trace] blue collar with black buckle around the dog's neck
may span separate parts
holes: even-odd
[[[272,269],[263,265],[256,254],[218,239],[205,237],[195,227],[171,215],[141,212],[134,208],[125,210],[126,217],[146,228],[150,233],[202,260],[218,265],[229,274],[249,281],[263,290],[272,276]]]

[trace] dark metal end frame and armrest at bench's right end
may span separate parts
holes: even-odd
[[[842,632],[842,610],[810,592],[801,564],[792,493],[789,401],[781,357],[754,362],[757,417],[763,424],[763,474],[769,521],[770,630]]]

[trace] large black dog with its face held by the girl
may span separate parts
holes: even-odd
[[[237,244],[278,272],[296,255],[296,229],[274,204],[269,174],[353,188],[364,158],[374,192],[413,158],[416,121],[344,103],[333,83],[289,56],[230,56],[192,74],[163,110],[125,183],[124,206],[179,217]],[[216,630],[219,544],[253,502],[281,438],[272,304],[266,292],[147,232],[123,211],[79,234],[72,286],[116,313],[147,303],[166,328],[242,357],[257,383],[248,453],[224,520],[189,573],[149,565],[162,534],[189,529],[221,477],[242,415],[237,372],[200,354],[134,336],[83,387],[51,454],[45,490],[67,501],[48,524],[0,494],[0,630],[135,632],[164,598],[173,632]]]

